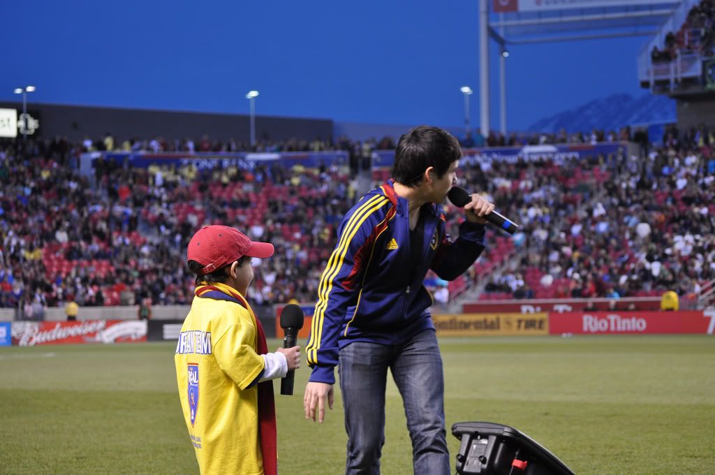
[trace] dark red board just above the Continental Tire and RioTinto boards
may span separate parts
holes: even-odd
[[[615,312],[630,310],[660,310],[660,297],[634,297],[611,300],[608,298],[579,298],[551,300],[482,300],[465,303],[463,313],[568,313],[586,310],[589,303],[595,308],[592,311],[613,311],[609,307],[615,302]],[[630,308],[632,306],[632,308]]]

